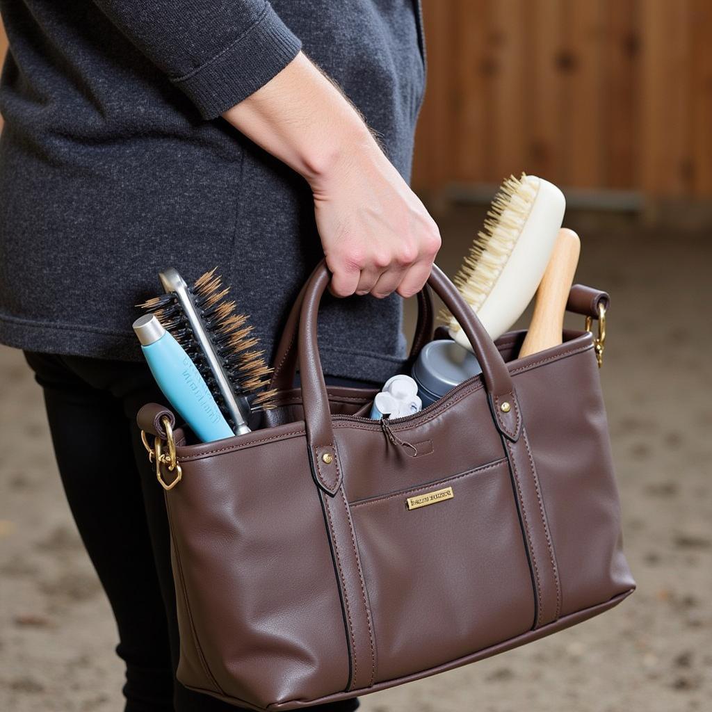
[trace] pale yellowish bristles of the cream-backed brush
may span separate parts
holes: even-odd
[[[510,176],[495,195],[483,229],[478,232],[462,266],[453,278],[464,300],[477,311],[491,293],[529,217],[537,189],[526,180]],[[461,327],[446,308],[438,314],[452,331]]]

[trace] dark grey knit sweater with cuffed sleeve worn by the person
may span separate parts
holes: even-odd
[[[271,362],[323,256],[308,184],[220,114],[303,48],[403,177],[424,95],[419,0],[0,0],[0,342],[140,360],[157,273],[218,266]],[[382,380],[402,298],[335,298],[326,373]]]

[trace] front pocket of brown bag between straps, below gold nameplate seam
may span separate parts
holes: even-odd
[[[446,488],[451,492],[426,497]],[[409,509],[408,498],[432,503]],[[350,508],[375,629],[377,682],[532,626],[531,575],[506,460]]]

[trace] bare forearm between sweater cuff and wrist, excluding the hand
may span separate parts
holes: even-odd
[[[302,52],[223,117],[310,184],[345,150],[378,148],[359,112]]]

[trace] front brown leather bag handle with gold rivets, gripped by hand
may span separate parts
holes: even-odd
[[[315,267],[303,297],[299,323],[299,363],[302,402],[312,468],[320,486],[334,494],[340,486],[341,468],[334,439],[328,394],[319,358],[317,315],[331,273],[325,259]],[[493,340],[444,272],[434,264],[429,286],[459,321],[482,367],[482,375],[497,429],[511,441],[520,434],[520,407],[511,376]]]

